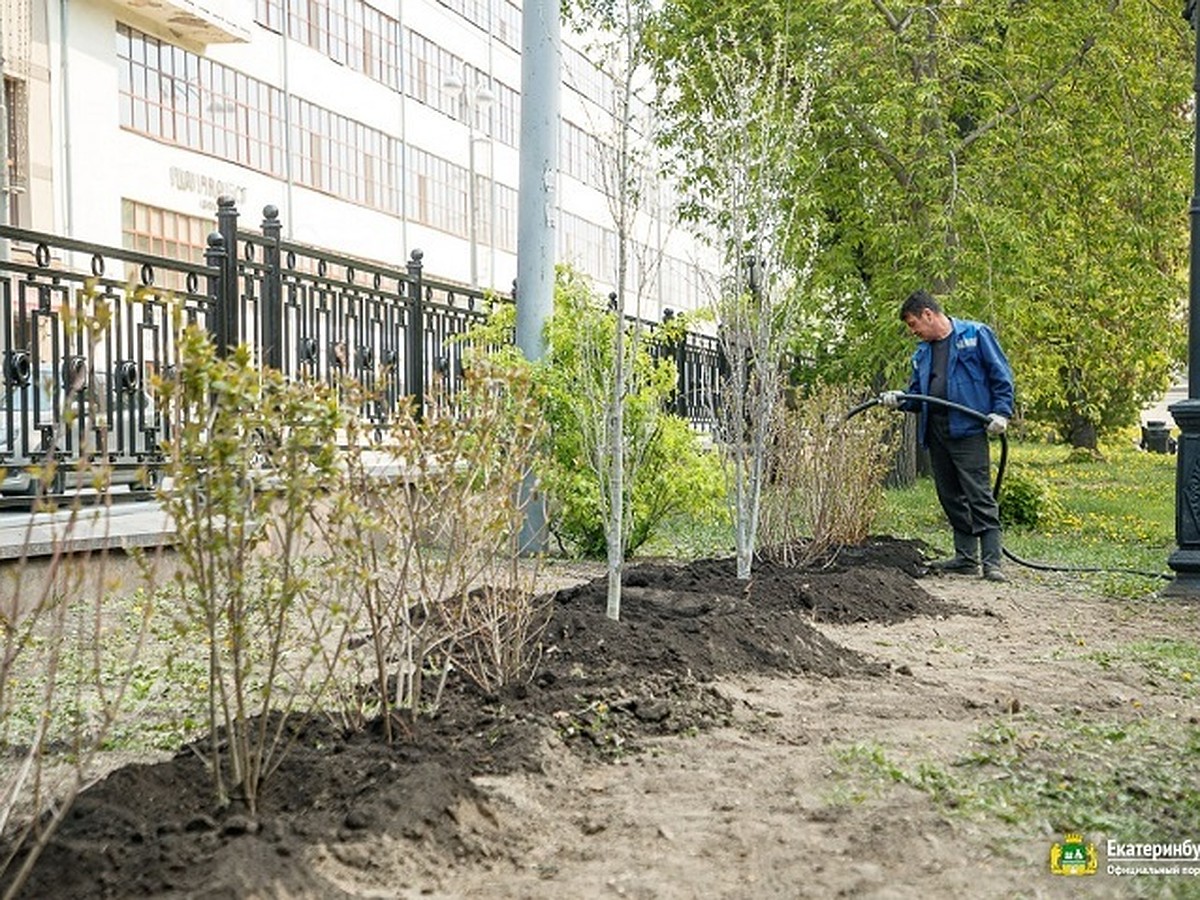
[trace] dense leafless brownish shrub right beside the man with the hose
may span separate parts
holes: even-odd
[[[762,536],[763,553],[785,565],[808,565],[863,541],[878,515],[892,422],[870,414],[846,419],[854,400],[846,388],[818,385],[780,413]]]

